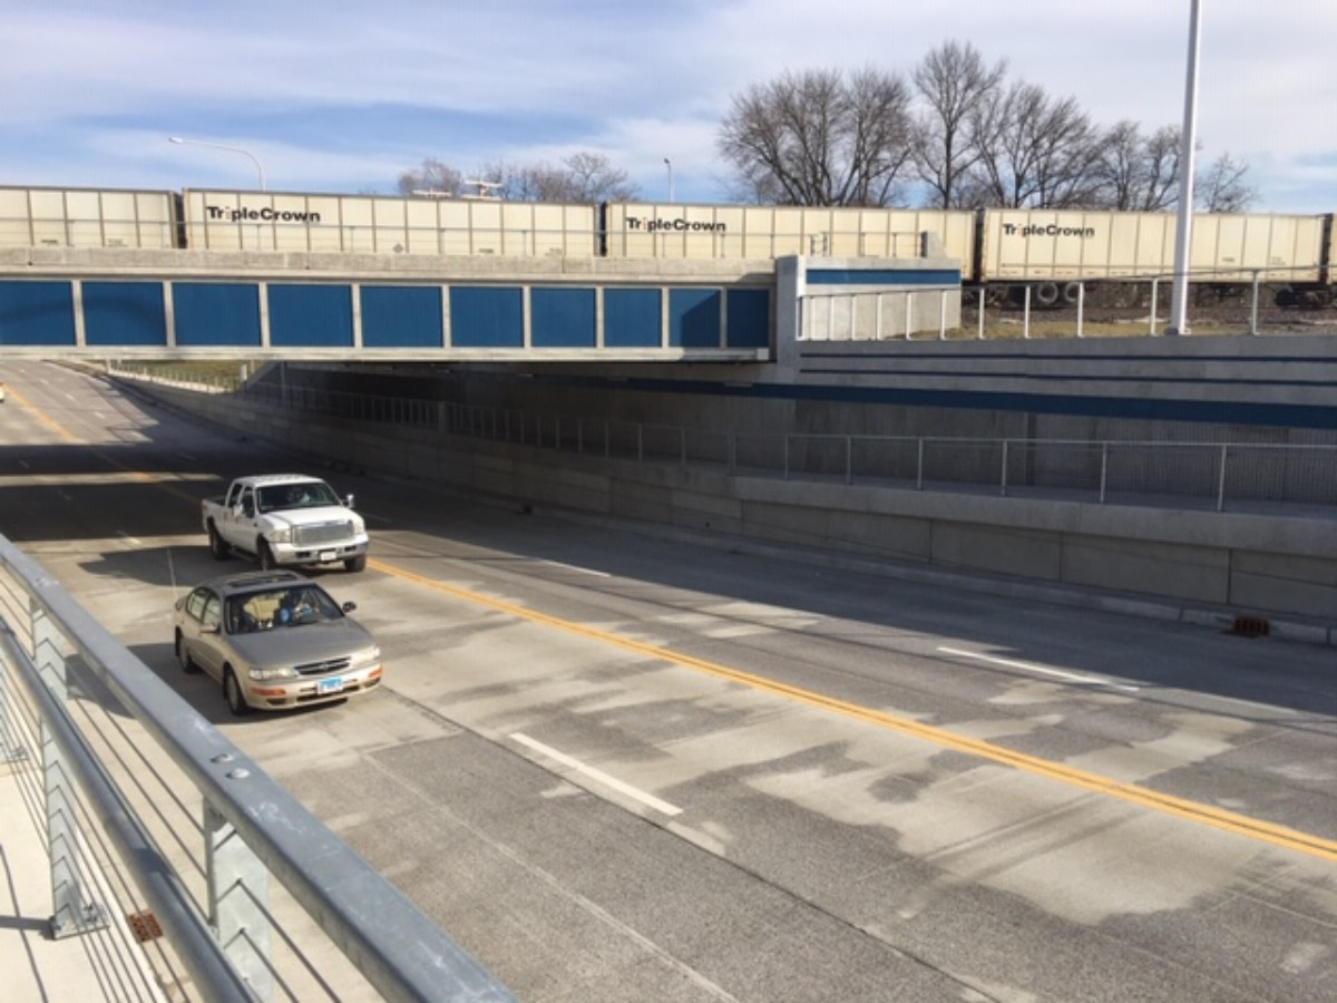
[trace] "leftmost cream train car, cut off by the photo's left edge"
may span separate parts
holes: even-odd
[[[170,250],[176,223],[172,191],[0,187],[0,247]]]

